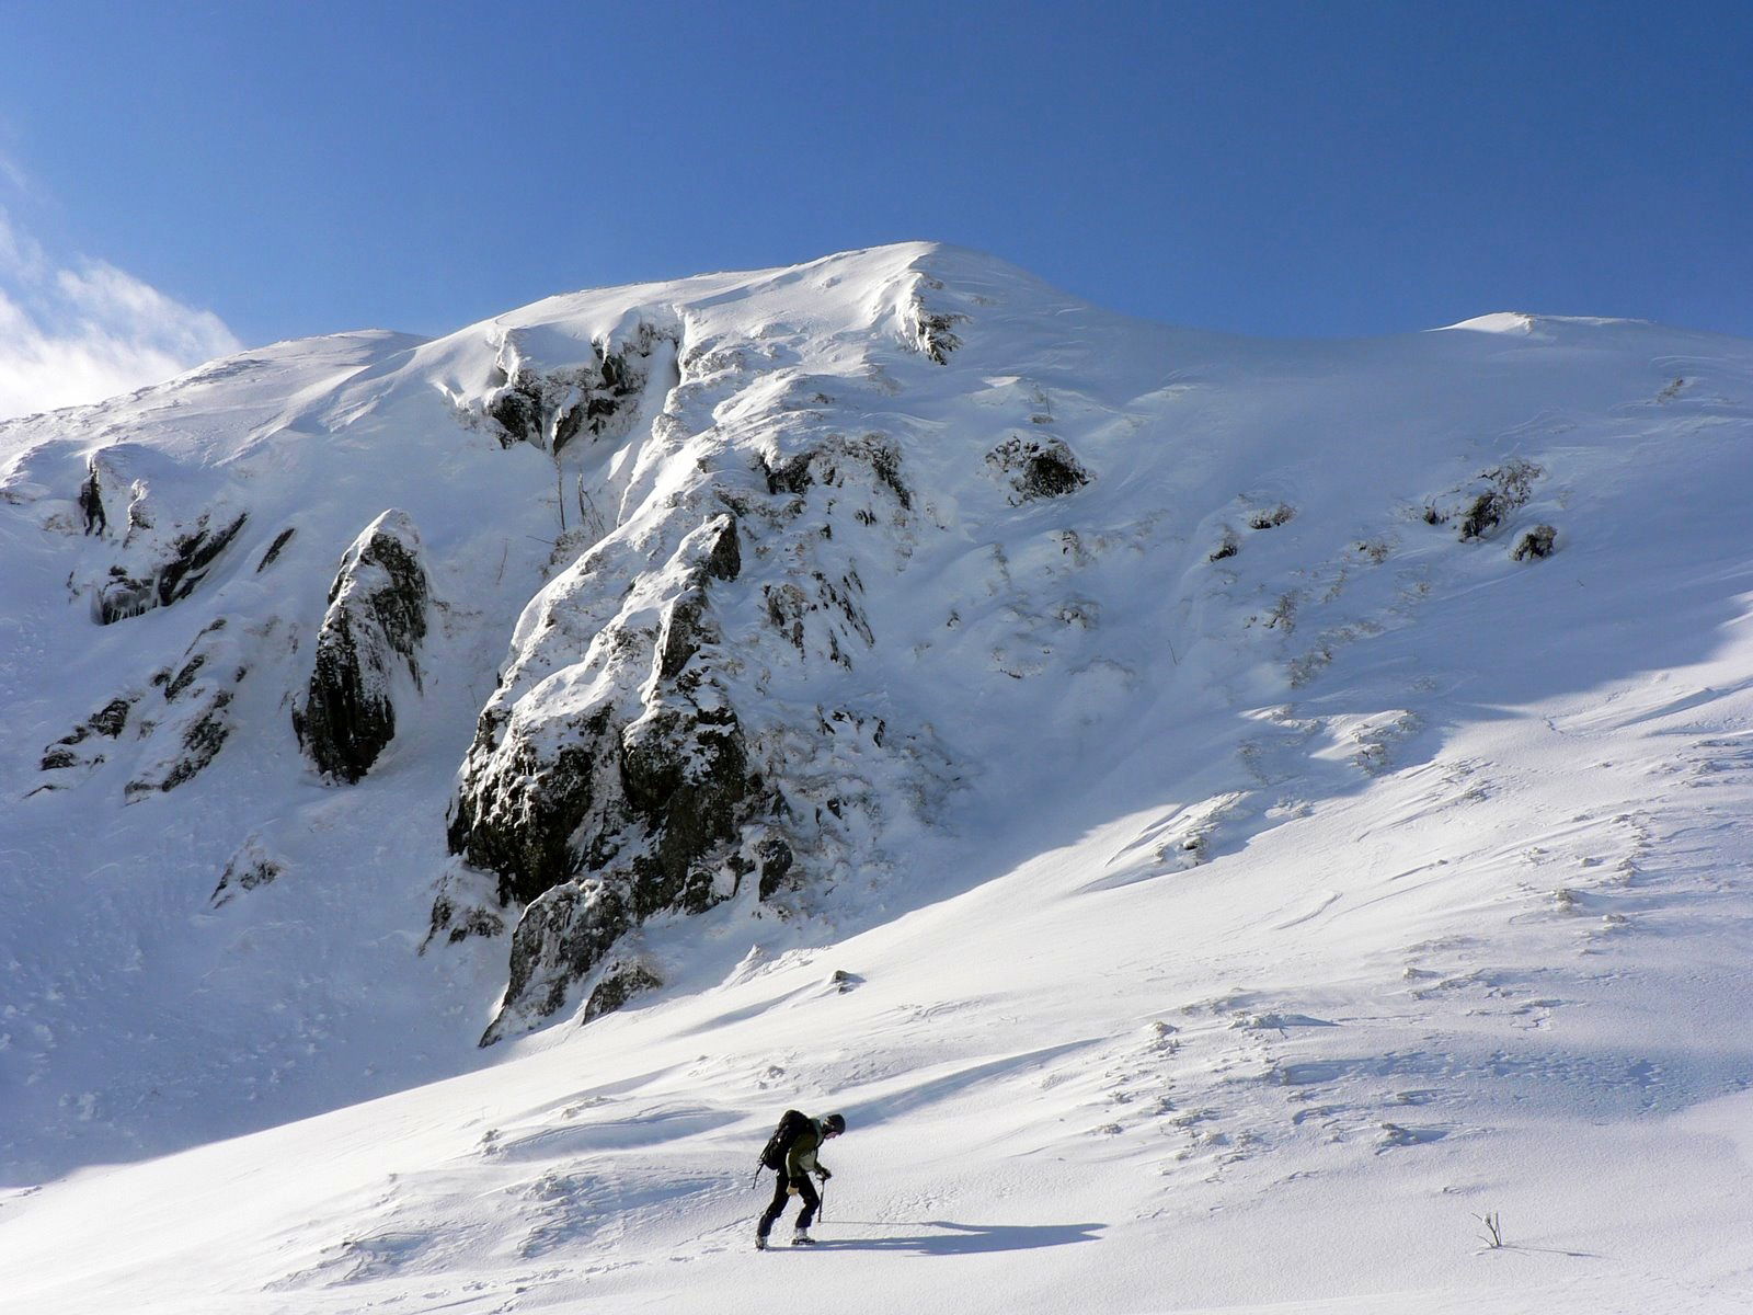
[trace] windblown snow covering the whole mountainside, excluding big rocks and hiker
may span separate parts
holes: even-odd
[[[636,331],[619,431],[489,419]],[[1749,496],[1753,344],[1225,338],[938,245],[7,423],[0,1310],[1753,1310]],[[479,1047],[477,717],[726,507],[717,675],[843,817]],[[387,510],[431,601],[347,785],[291,719]],[[757,1254],[787,1106],[850,1131]]]

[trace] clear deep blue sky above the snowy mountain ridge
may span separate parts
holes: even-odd
[[[941,238],[1245,333],[1753,335],[1744,2],[0,0],[0,32],[46,331],[46,270],[263,342]]]

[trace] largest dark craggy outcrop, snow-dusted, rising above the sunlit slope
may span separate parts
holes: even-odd
[[[582,596],[559,591],[540,626],[601,601],[596,566],[577,570]],[[736,517],[717,514],[649,582],[659,598],[596,631],[582,670],[514,686],[482,712],[451,849],[498,877],[501,903],[526,905],[484,1043],[554,1013],[654,913],[701,912],[735,894],[761,868],[745,842],[771,849],[766,833],[745,836],[778,801],[713,670],[722,635],[712,591],[740,572]],[[640,624],[650,610],[656,628]],[[445,920],[435,908],[435,935]]]

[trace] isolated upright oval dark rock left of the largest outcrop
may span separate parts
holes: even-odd
[[[429,587],[405,512],[377,517],[342,558],[293,731],[317,771],[352,784],[396,735],[398,673],[421,687]]]

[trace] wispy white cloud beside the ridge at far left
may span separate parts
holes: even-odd
[[[0,209],[0,419],[100,402],[240,345],[210,310],[114,265],[51,258]]]

